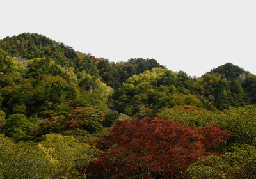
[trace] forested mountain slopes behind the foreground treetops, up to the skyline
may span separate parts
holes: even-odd
[[[120,116],[154,117],[178,105],[255,103],[255,75],[232,63],[192,78],[155,59],[114,63],[36,33],[0,40],[0,133],[17,140],[95,133]]]

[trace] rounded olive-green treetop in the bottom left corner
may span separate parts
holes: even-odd
[[[51,176],[51,162],[33,143],[18,143],[0,155],[3,178],[45,178]]]

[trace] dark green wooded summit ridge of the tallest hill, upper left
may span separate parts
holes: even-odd
[[[72,47],[56,42],[37,33],[22,33],[17,36],[0,40],[0,48],[12,57],[33,59],[49,57],[57,65],[65,68],[73,67],[76,72],[85,70],[86,73],[99,77],[99,72],[90,60],[90,55],[77,53]]]

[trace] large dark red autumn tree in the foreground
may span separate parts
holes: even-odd
[[[154,118],[116,121],[108,135],[95,141],[106,152],[81,172],[90,178],[184,178],[190,164],[213,155],[205,150],[228,136],[218,125],[196,128]]]

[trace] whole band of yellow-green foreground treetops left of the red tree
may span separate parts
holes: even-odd
[[[39,144],[13,143],[0,135],[0,178],[78,178],[97,149],[70,136],[51,134]]]

